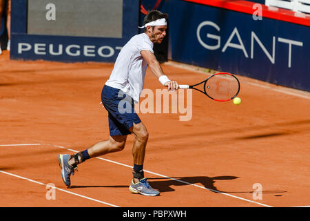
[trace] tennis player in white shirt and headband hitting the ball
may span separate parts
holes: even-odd
[[[144,33],[132,37],[119,52],[110,78],[105,82],[101,93],[102,104],[108,112],[110,139],[74,155],[59,155],[61,176],[66,186],[70,187],[70,175],[74,174],[77,164],[92,157],[122,151],[127,135],[133,133],[134,166],[130,191],[142,195],[159,195],[159,192],[149,185],[143,173],[149,134],[134,111],[134,103],[139,101],[143,90],[147,66],[168,90],[178,89],[178,83],[170,81],[164,75],[153,51],[153,44],[161,44],[166,36],[166,19],[167,14],[157,10],[150,11],[143,20],[143,26],[139,27],[144,29]]]

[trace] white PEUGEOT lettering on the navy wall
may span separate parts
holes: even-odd
[[[65,47],[63,51],[63,44],[29,44],[25,42],[19,42],[17,46],[17,52],[23,54],[23,52],[31,52],[33,50],[34,55],[68,55],[72,57],[85,56],[85,57],[112,57],[115,55],[115,50],[121,50],[121,46],[116,46],[115,49],[111,46],[100,46],[98,49],[96,46],[79,46],[72,44]],[[83,52],[81,51],[83,50]],[[64,54],[65,52],[65,54]]]

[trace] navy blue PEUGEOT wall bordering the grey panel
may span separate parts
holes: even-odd
[[[120,39],[27,35],[27,2],[12,1],[11,59],[114,62],[121,47],[138,33],[139,1],[125,0],[123,37]]]

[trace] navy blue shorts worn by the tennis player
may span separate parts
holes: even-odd
[[[134,99],[121,90],[105,85],[101,93],[101,101],[109,113],[110,136],[129,135],[129,129],[141,122],[134,111]]]

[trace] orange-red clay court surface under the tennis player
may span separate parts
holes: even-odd
[[[80,164],[72,188],[66,189],[59,153],[74,153],[65,148],[82,151],[109,135],[107,111],[99,102],[112,68],[113,64],[101,63],[10,61],[4,51],[0,56],[0,206],[310,205],[309,93],[287,95],[248,84],[245,77],[240,77],[239,106],[214,102],[193,91],[190,121],[180,121],[181,114],[139,113],[149,131],[145,170],[152,173],[145,175],[160,196],[128,190],[132,136],[124,151],[102,156],[113,162],[91,159]],[[179,84],[206,78],[167,64],[163,70]],[[162,88],[149,70],[145,88]],[[55,200],[45,197],[48,183],[58,188]],[[261,200],[253,198],[256,183],[262,186]]]

